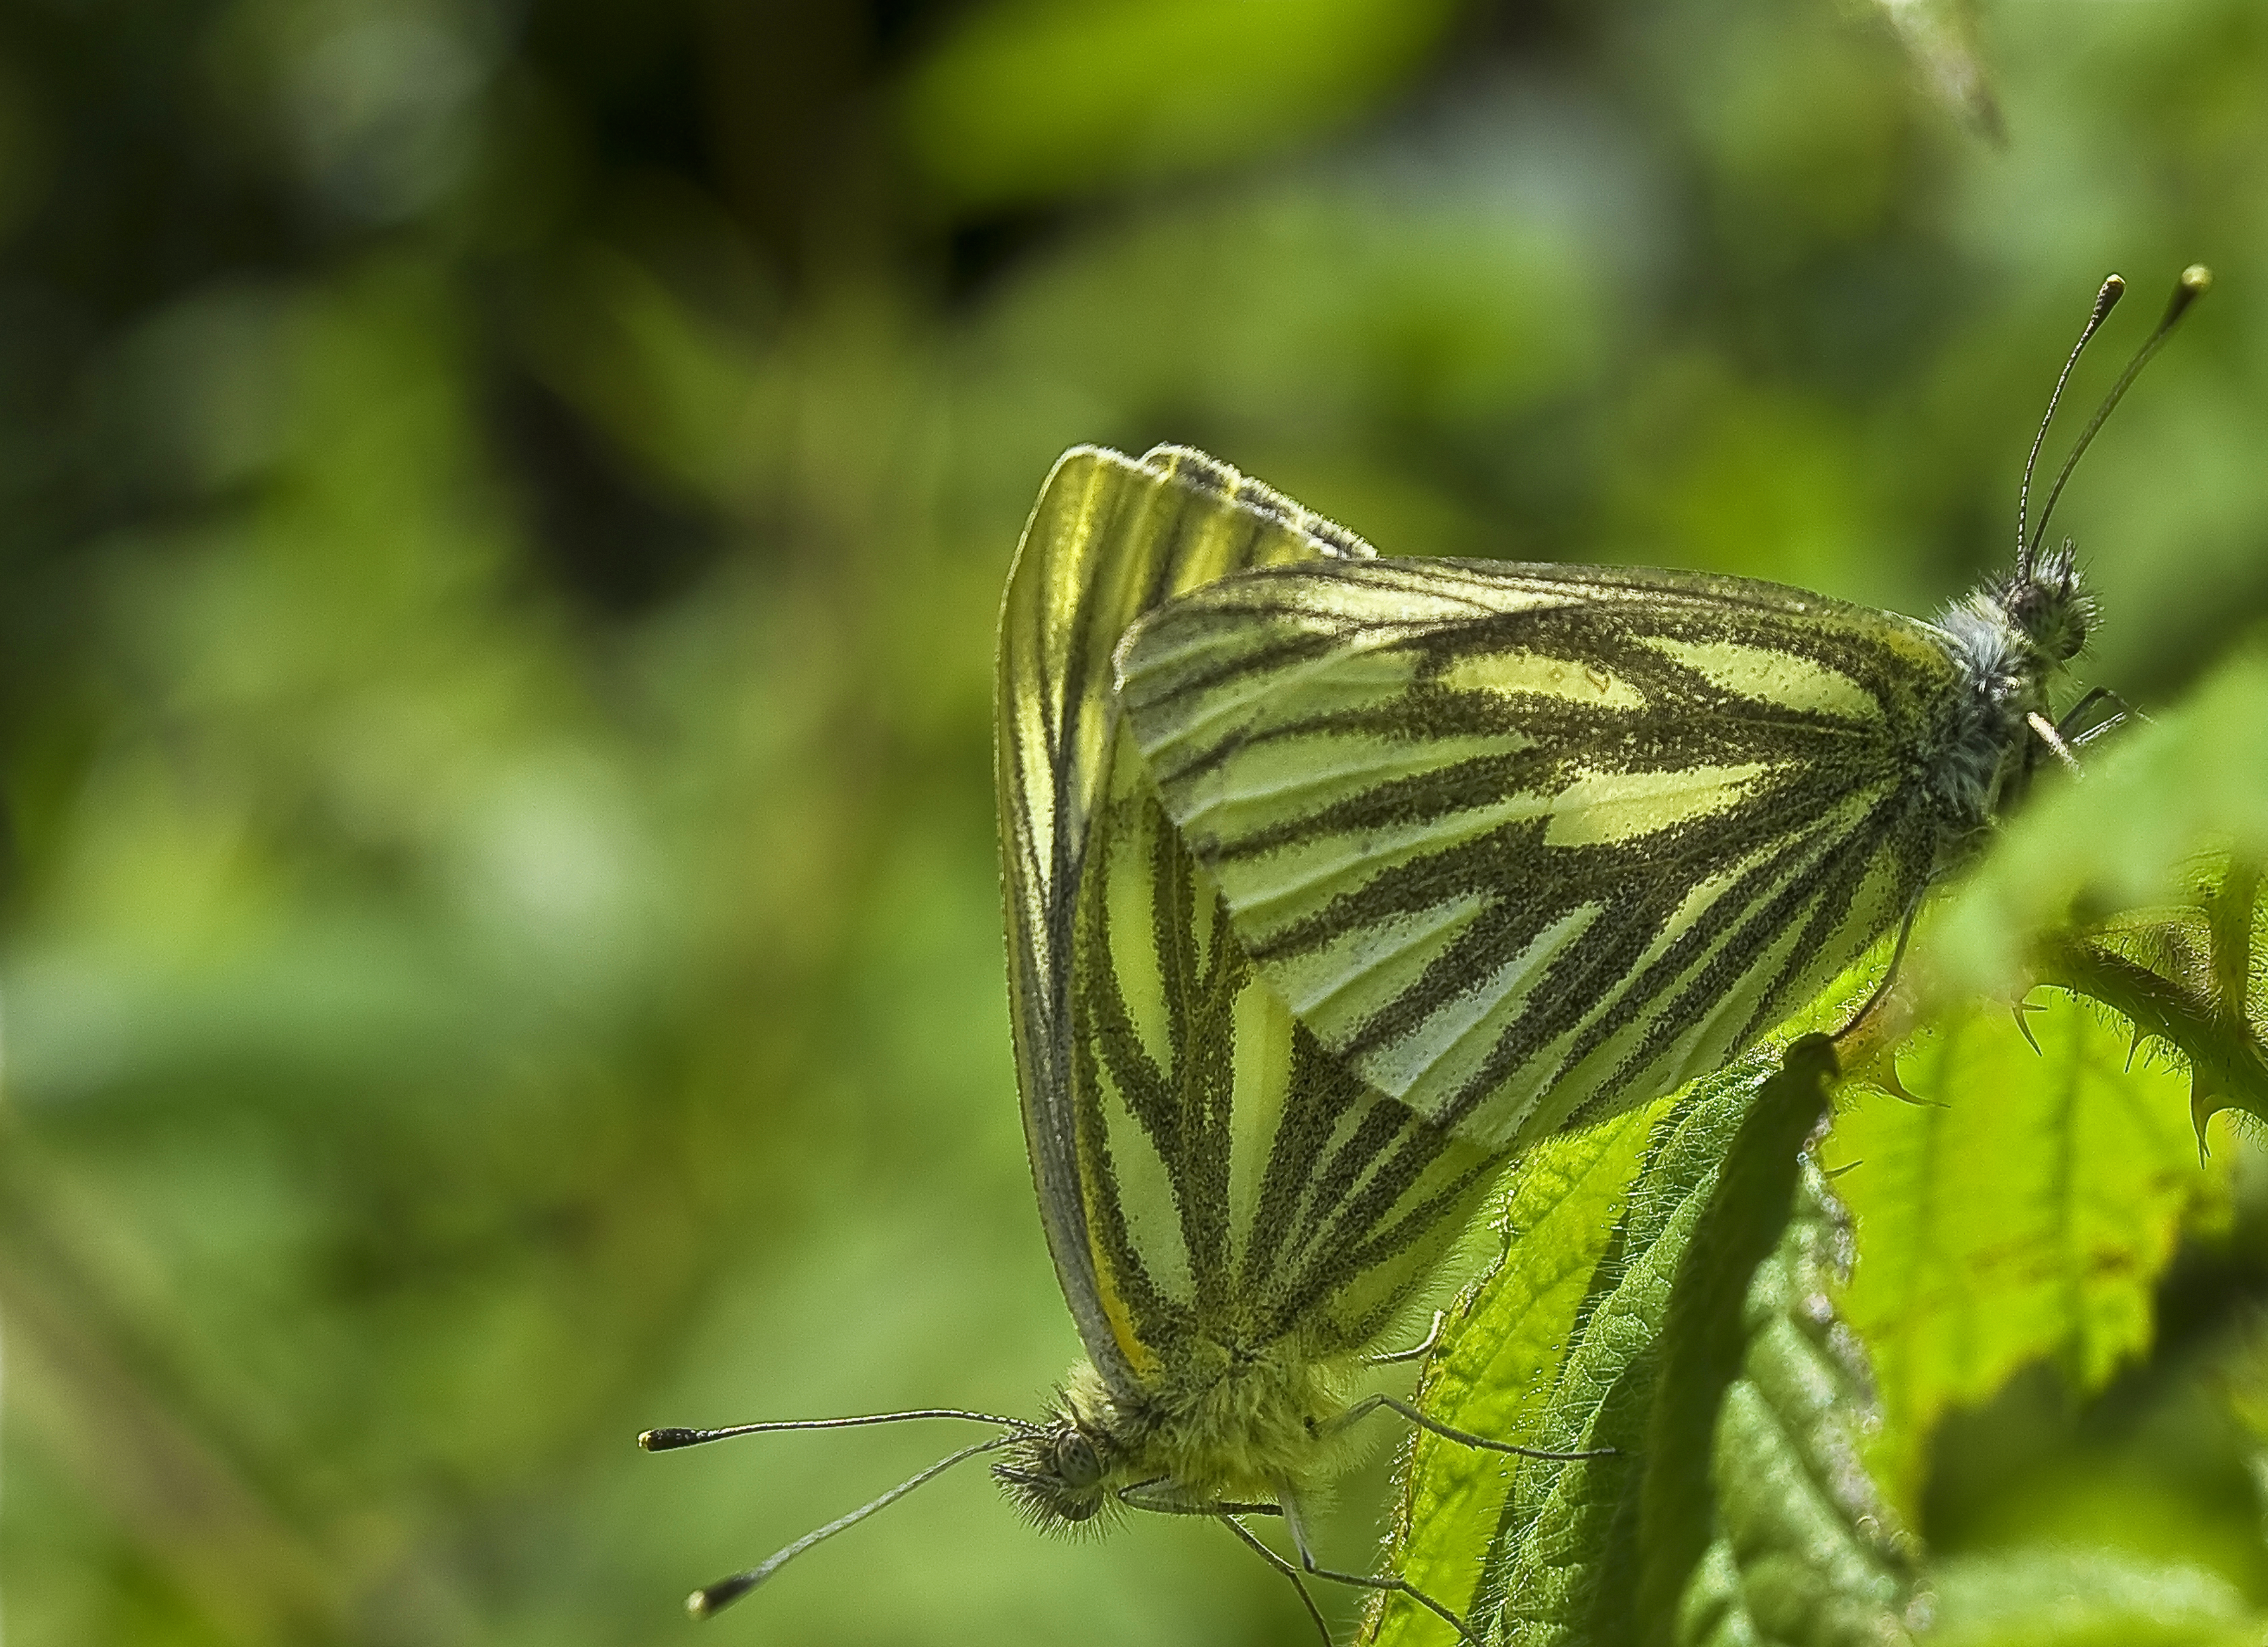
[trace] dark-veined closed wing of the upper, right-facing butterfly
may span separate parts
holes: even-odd
[[[1363,1080],[1499,1150],[1721,1064],[1896,923],[1960,703],[1912,619],[1456,560],[1229,578],[1118,667],[1261,973]]]

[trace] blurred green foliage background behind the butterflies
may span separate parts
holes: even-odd
[[[14,0],[11,1640],[689,1640],[959,1431],[637,1429],[1034,1407],[987,694],[1064,445],[1928,613],[2100,274],[2207,261],[2059,515],[2166,701],[2268,610],[2263,177],[2259,0]],[[2148,1456],[2136,1377],[1926,1531]],[[978,1468],[705,1631],[1311,1640]]]

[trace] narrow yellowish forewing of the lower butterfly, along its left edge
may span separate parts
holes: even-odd
[[[1143,613],[1232,572],[1368,554],[1198,451],[1134,461],[1075,447],[1048,476],[1009,572],[996,708],[1016,1075],[1057,1277],[1095,1368],[1118,1388],[1134,1388],[1125,1320],[1114,1325],[1105,1307],[1070,1103],[1075,903],[1118,733],[1111,649]]]

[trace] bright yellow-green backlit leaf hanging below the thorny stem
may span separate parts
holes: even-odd
[[[1862,1093],[1823,1146],[1857,1225],[1844,1316],[1867,1343],[1885,1425],[1869,1463],[1919,1502],[1930,1431],[2023,1366],[2080,1393],[2150,1345],[2152,1289],[2184,1223],[2218,1218],[2198,1168],[2189,1075],[2062,991],[2025,1023],[1944,1016],[1876,1066],[1916,1103]],[[2037,1048],[2034,1050],[2034,1044]]]

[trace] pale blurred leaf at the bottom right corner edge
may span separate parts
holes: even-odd
[[[2109,1549],[2007,1549],[1932,1572],[1930,1647],[2257,1647],[2227,1579]]]

